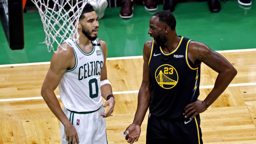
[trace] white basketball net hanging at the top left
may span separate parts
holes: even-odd
[[[53,2],[53,7],[49,7],[49,1]],[[63,47],[61,43],[69,37],[78,41],[78,25],[73,23],[79,21],[87,0],[32,0],[32,2],[36,5],[41,16],[44,32],[46,33],[43,43],[47,45],[49,52],[57,52],[58,48],[66,50],[67,45]],[[70,9],[65,10],[64,7]],[[77,11],[74,11],[75,7],[78,9]],[[73,16],[69,17],[69,12],[73,12]]]

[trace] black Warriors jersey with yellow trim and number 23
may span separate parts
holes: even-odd
[[[180,36],[181,37],[181,36]],[[182,117],[186,105],[199,96],[200,66],[188,59],[191,39],[181,37],[170,53],[151,46],[149,68],[151,73],[149,112],[156,117],[175,119]]]

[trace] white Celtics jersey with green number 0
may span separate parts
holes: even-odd
[[[60,99],[65,108],[76,112],[95,111],[102,106],[100,78],[104,55],[98,39],[93,48],[85,53],[71,38],[68,43],[75,54],[75,66],[67,69],[59,83]]]

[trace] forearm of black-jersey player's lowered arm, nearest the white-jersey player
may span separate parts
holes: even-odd
[[[148,110],[150,102],[150,88],[140,87],[138,94],[138,106],[134,116],[133,123],[141,126],[145,117],[146,111]]]

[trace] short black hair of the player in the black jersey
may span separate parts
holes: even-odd
[[[170,11],[158,11],[153,16],[159,17],[159,21],[166,23],[172,30],[175,30],[176,19]]]

